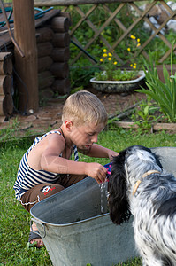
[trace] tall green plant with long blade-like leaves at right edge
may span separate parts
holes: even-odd
[[[162,113],[168,117],[171,122],[176,121],[176,75],[172,73],[173,62],[173,44],[171,52],[171,76],[167,71],[165,65],[163,66],[163,74],[165,83],[161,82],[157,74],[157,67],[154,64],[151,54],[149,53],[149,63],[143,59],[143,70],[146,76],[146,85],[149,90],[142,88],[135,90],[145,93],[157,102]]]

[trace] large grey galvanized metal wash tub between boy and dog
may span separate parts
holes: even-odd
[[[152,150],[161,156],[164,168],[176,175],[176,148]],[[96,181],[88,177],[32,207],[32,220],[53,265],[112,266],[137,255],[132,219],[120,226],[111,222],[105,191],[101,193]]]

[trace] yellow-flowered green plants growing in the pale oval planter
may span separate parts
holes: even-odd
[[[134,55],[141,46],[141,43],[140,39],[136,38],[134,35],[131,35],[130,39],[132,42],[127,43],[126,51],[128,54],[126,63],[132,68],[132,71],[126,71],[126,69],[118,68],[121,67],[121,64],[117,61],[117,59],[113,58],[113,52],[103,49],[103,55],[100,59],[100,68],[103,71],[95,72],[97,81],[129,81],[136,78],[140,66],[138,66],[135,62],[136,59]]]

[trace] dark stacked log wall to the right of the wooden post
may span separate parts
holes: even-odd
[[[70,92],[70,21],[69,13],[60,12],[48,24],[36,29],[40,100]]]

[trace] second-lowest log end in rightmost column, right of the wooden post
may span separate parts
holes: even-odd
[[[50,66],[50,72],[58,79],[65,79],[69,75],[68,63],[53,63]]]

